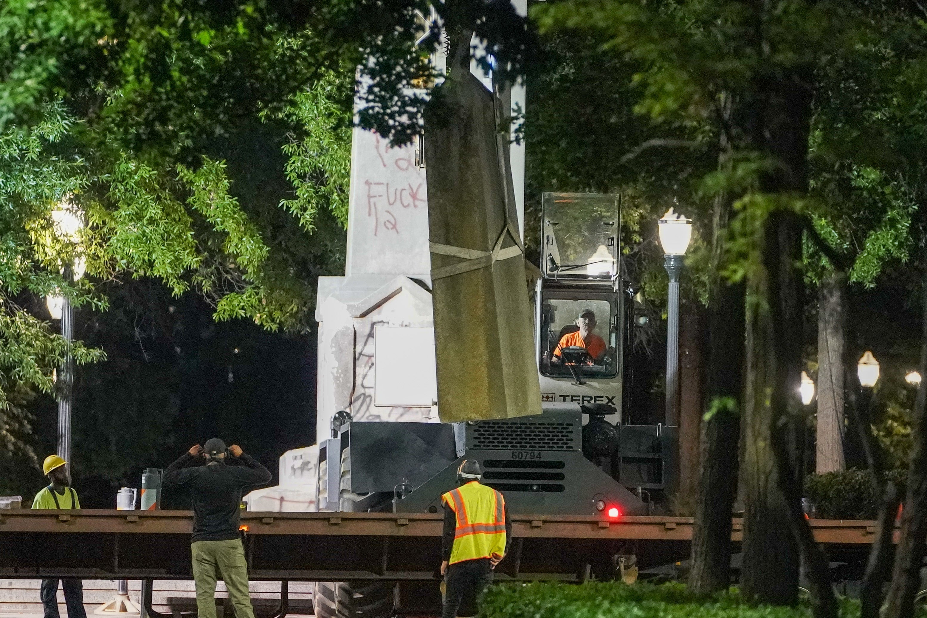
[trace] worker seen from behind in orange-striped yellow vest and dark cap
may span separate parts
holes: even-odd
[[[482,476],[476,460],[464,460],[457,469],[460,486],[441,496],[441,574],[445,584],[441,618],[455,618],[462,601],[464,607],[473,605],[492,583],[492,570],[512,540],[505,499],[492,487],[481,485]]]

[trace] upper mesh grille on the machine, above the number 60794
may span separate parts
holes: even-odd
[[[486,450],[577,450],[577,423],[482,421],[471,428],[469,448]]]

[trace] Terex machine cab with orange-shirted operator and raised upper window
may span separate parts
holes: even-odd
[[[621,196],[546,193],[541,215],[535,344],[542,408],[604,405],[620,422]]]

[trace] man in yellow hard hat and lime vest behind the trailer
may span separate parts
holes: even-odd
[[[57,455],[49,455],[42,464],[42,472],[51,481],[32,500],[33,509],[80,509],[81,501],[77,492],[70,486],[68,462]],[[40,596],[45,610],[45,618],[60,618],[57,609],[57,579],[43,579]],[[80,579],[69,577],[61,580],[64,588],[65,607],[68,618],[87,618],[83,609],[83,583]]]

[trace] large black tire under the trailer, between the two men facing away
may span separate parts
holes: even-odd
[[[391,618],[395,600],[387,582],[316,582],[312,608],[316,618]]]

